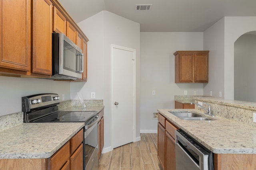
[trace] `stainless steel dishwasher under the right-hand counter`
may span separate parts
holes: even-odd
[[[214,170],[212,152],[181,129],[175,131],[176,170]]]

